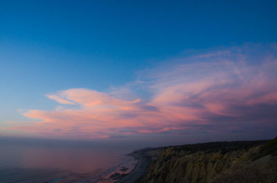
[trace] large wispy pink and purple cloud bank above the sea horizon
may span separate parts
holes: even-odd
[[[275,44],[246,44],[172,59],[141,71],[134,83],[111,88],[107,93],[71,88],[46,95],[69,105],[57,110],[28,110],[24,116],[39,122],[17,124],[6,130],[76,138],[166,131],[177,134],[184,130],[277,130],[276,70]],[[137,88],[148,96],[133,93]]]

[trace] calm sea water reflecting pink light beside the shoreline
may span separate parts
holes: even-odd
[[[109,143],[0,139],[0,183],[116,182],[111,175],[136,164],[125,155],[130,151]]]

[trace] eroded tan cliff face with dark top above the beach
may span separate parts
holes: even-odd
[[[215,142],[164,148],[139,182],[277,182],[277,157],[254,160],[265,142]]]

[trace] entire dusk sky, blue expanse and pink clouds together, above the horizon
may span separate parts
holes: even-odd
[[[1,1],[0,136],[273,138],[276,5]]]

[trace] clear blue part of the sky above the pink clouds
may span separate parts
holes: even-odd
[[[1,1],[0,126],[191,52],[277,40],[276,1]],[[32,119],[33,120],[33,119]]]

